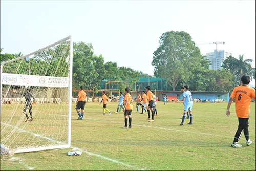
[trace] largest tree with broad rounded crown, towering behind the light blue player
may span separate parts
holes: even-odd
[[[165,32],[160,37],[160,45],[154,52],[152,65],[154,75],[165,78],[173,90],[179,83],[193,78],[195,70],[207,66],[200,50],[186,32]],[[205,61],[206,62],[206,61]]]

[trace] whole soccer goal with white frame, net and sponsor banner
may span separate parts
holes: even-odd
[[[1,154],[71,145],[71,36],[1,63]]]

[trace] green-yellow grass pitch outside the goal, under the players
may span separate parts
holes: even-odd
[[[184,126],[181,103],[158,102],[155,122],[134,105],[132,129],[122,129],[116,105],[109,103],[112,114],[103,116],[102,106],[87,103],[85,120],[76,120],[73,108],[72,148],[1,157],[1,170],[255,170],[255,103],[249,120],[253,144],[246,146],[242,135],[241,148],[230,147],[238,126],[234,104],[227,117],[227,103],[195,103],[194,124]],[[82,155],[67,156],[73,148]]]

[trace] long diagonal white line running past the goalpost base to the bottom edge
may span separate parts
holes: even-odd
[[[64,115],[64,116],[66,116],[66,115]],[[17,131],[20,131],[20,132],[26,132],[26,133],[29,133],[29,134],[31,134],[31,135],[33,135],[33,136],[36,136],[36,137],[40,137],[40,138],[43,138],[43,139],[47,139],[47,140],[49,140],[49,141],[55,141],[55,142],[61,143],[61,142],[59,142],[59,141],[57,141],[57,140],[53,140],[53,139],[51,139],[51,138],[48,138],[48,137],[45,137],[45,136],[41,136],[41,135],[39,135],[39,134],[35,134],[35,133],[29,132],[29,131],[26,131],[26,130],[23,130],[23,129],[19,129],[19,128],[17,128],[17,127],[14,127],[14,126],[9,125],[9,124],[6,124],[6,123],[2,123],[2,122],[1,122],[1,124],[4,124],[4,125],[6,125],[6,126],[13,127],[14,129],[16,129]],[[96,157],[99,157],[99,158],[101,158],[101,159],[104,159],[104,160],[108,160],[108,161],[110,161],[110,162],[113,162],[113,163],[121,164],[121,165],[123,165],[123,166],[125,166],[125,167],[133,168],[133,169],[136,169],[136,170],[144,170],[144,169],[142,169],[142,168],[137,168],[136,166],[133,166],[133,165],[130,165],[130,164],[126,164],[126,163],[123,163],[123,162],[118,161],[118,160],[114,160],[114,159],[111,159],[111,158],[108,158],[108,157],[105,157],[105,156],[102,156],[102,155],[98,155],[98,154],[95,154],[95,153],[86,151],[85,149],[80,149],[80,148],[77,148],[77,147],[73,147],[73,148],[74,148],[74,149],[77,149],[77,150],[80,150],[80,151],[82,151],[82,152],[84,152],[84,153],[86,153],[86,154],[88,154],[88,155],[90,155],[90,156],[96,156]],[[15,158],[14,158],[14,159],[15,159]],[[13,160],[14,160],[14,159],[13,159]],[[23,164],[23,165],[24,165],[24,164]],[[25,166],[25,165],[24,165],[24,166]],[[33,167],[28,167],[28,169],[29,169],[29,168],[32,168],[32,169],[33,169]]]

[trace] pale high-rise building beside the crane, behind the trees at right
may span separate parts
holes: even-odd
[[[223,61],[230,55],[232,56],[232,53],[225,52],[224,50],[214,50],[214,52],[206,53],[206,58],[211,61],[209,69],[221,69]]]

